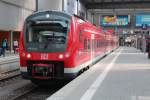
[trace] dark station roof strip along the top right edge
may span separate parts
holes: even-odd
[[[80,0],[87,9],[150,8],[150,0]]]

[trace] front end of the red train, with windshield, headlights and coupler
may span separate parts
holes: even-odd
[[[20,38],[21,74],[30,80],[64,79],[71,16],[45,11],[29,16]]]

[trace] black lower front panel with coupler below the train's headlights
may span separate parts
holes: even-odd
[[[58,61],[27,61],[28,74],[32,77],[62,78],[64,63]]]

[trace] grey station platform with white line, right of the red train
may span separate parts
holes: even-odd
[[[46,100],[150,100],[150,60],[120,47]]]

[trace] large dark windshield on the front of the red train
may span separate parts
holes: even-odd
[[[27,51],[64,52],[69,31],[69,19],[30,21],[25,34]]]

